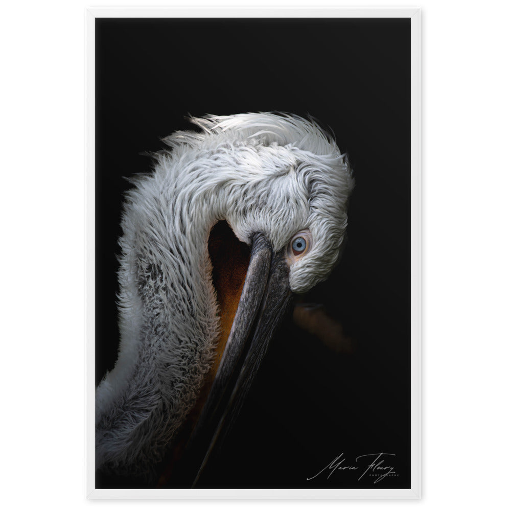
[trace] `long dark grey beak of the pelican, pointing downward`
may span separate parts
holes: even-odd
[[[256,234],[222,360],[187,447],[193,486],[236,420],[290,299],[289,268],[284,252],[273,253],[266,238]]]

